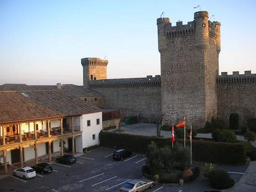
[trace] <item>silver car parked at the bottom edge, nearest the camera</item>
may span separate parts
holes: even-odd
[[[121,192],[140,192],[152,188],[154,185],[153,181],[143,181],[143,180],[130,180],[124,184],[119,190]]]

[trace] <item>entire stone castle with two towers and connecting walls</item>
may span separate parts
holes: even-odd
[[[161,76],[107,79],[107,60],[84,58],[84,87],[104,95],[105,107],[127,116],[156,119],[164,114],[163,124],[186,116],[196,127],[212,117],[228,125],[235,112],[243,125],[256,116],[256,74],[219,76],[220,22],[208,20],[206,11],[195,12],[186,25],[179,21],[172,26],[169,18],[158,18],[157,33]]]

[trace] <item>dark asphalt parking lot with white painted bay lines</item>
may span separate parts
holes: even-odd
[[[123,161],[114,161],[112,159],[112,153],[113,149],[97,148],[90,153],[77,156],[77,162],[75,164],[52,163],[53,172],[44,175],[37,174],[35,178],[28,180],[8,176],[0,180],[1,192],[111,192],[119,191],[119,188],[128,180],[144,179],[141,173],[141,167],[146,163],[144,155],[133,154]],[[236,168],[235,171],[241,172],[244,169],[246,168]],[[156,185],[147,191],[196,192],[205,190],[211,190],[211,188],[201,179],[198,179],[182,187],[163,187]]]

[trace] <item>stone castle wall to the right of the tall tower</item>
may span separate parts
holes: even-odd
[[[217,97],[218,117],[229,126],[229,115],[238,113],[239,125],[245,125],[256,118],[256,74],[218,76]]]

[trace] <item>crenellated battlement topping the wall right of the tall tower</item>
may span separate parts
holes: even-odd
[[[239,74],[239,71],[233,71],[232,75],[228,72],[221,72],[217,76],[217,84],[247,84],[256,83],[256,74],[251,74],[251,71],[244,71],[244,74]]]

